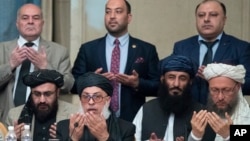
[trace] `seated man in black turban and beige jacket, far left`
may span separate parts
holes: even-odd
[[[78,111],[73,104],[58,100],[64,84],[63,75],[55,70],[37,70],[25,75],[23,83],[31,88],[29,99],[25,105],[9,111],[6,124],[14,124],[18,139],[24,124],[31,125],[34,141],[55,138],[55,123]]]

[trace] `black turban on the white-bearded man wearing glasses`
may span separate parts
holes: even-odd
[[[110,80],[100,74],[96,74],[94,72],[87,72],[78,77],[76,87],[79,96],[81,96],[83,89],[92,86],[101,88],[108,94],[108,96],[112,96],[113,94],[113,86]]]

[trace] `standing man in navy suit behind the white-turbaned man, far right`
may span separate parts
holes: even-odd
[[[190,57],[195,63],[197,76],[193,82],[193,97],[206,104],[208,84],[202,71],[207,63],[242,64],[246,68],[243,94],[250,94],[250,44],[224,32],[226,7],[217,0],[204,0],[195,10],[198,35],[174,44],[173,54]],[[210,44],[210,45],[209,45]]]

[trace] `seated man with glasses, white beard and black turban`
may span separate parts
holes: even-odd
[[[133,141],[135,126],[112,113],[110,101],[113,87],[110,81],[93,72],[77,79],[82,113],[57,124],[58,138],[62,141]]]

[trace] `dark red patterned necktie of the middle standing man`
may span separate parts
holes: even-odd
[[[120,48],[119,48],[119,40],[115,40],[115,47],[112,51],[112,58],[111,58],[111,69],[110,71],[114,74],[119,73],[119,67],[120,67]],[[119,83],[117,81],[112,81],[113,84],[113,95],[111,98],[111,108],[114,112],[116,112],[119,109]]]

